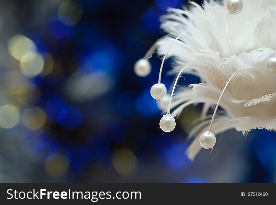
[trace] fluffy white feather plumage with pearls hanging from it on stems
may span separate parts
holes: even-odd
[[[176,36],[180,37],[168,56],[174,58],[172,73],[184,72],[199,76],[201,83],[178,89],[173,115],[179,115],[191,104],[204,103],[203,117],[216,104],[226,81],[233,76],[221,98],[225,111],[215,118],[212,132],[218,134],[235,128],[246,134],[252,129],[276,129],[276,75],[267,68],[275,56],[276,0],[243,0],[241,13],[231,15],[227,1],[205,1],[201,7],[190,2],[187,9],[169,9],[162,20],[162,29],[169,36],[158,41],[158,52],[164,55]],[[187,17],[185,17],[185,16]],[[210,116],[209,116],[210,117]],[[207,122],[210,123],[210,120]],[[199,136],[209,123],[199,124],[189,137],[194,141],[187,153],[194,159],[202,148]]]

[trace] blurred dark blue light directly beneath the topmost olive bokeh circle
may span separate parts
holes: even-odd
[[[71,39],[74,36],[75,31],[75,26],[66,26],[58,19],[50,23],[50,33],[56,39]]]

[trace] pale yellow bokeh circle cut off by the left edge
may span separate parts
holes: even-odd
[[[0,107],[0,127],[13,128],[20,122],[20,111],[13,105],[3,105]]]

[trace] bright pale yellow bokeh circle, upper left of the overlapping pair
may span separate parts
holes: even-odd
[[[26,36],[20,34],[12,36],[8,40],[7,47],[10,55],[17,60],[21,60],[22,56],[27,52],[36,51],[34,42]]]

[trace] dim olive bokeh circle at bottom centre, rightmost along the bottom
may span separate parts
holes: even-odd
[[[129,175],[135,170],[136,156],[127,148],[116,150],[112,155],[112,165],[122,175]]]

